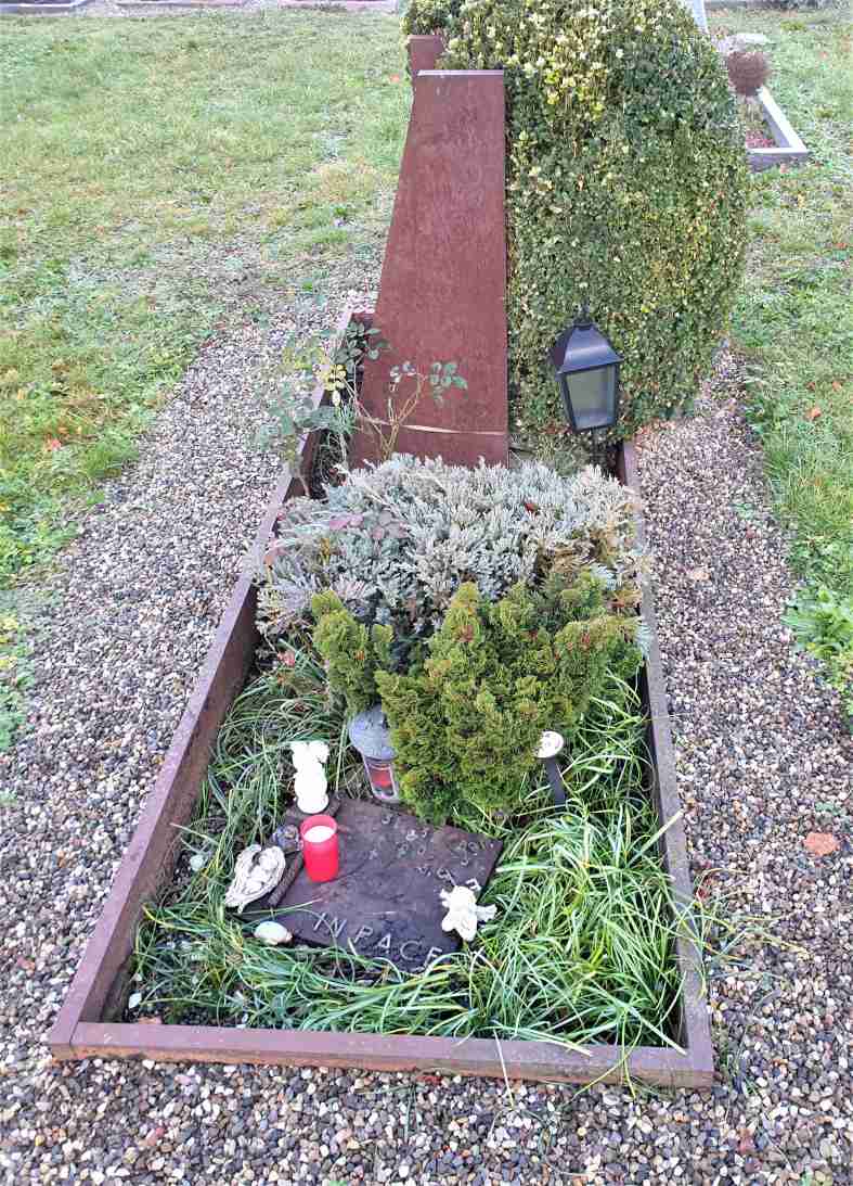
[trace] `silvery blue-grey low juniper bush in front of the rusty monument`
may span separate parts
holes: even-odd
[[[331,589],[359,623],[393,629],[399,657],[440,625],[464,581],[495,601],[552,570],[595,574],[613,607],[639,599],[643,556],[630,491],[588,467],[563,478],[538,463],[466,470],[395,457],[354,470],[323,502],[283,508],[258,574],[258,624],[275,640],[313,623]]]

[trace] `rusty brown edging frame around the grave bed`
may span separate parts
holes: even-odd
[[[342,333],[351,312],[341,319]],[[318,388],[314,398],[322,398]],[[312,434],[303,464],[315,447]],[[620,458],[620,477],[636,491],[636,454],[628,442]],[[287,474],[264,512],[257,544],[269,538],[286,498],[296,492]],[[643,531],[640,518],[640,531]],[[642,681],[649,713],[653,795],[661,822],[674,821],[660,847],[672,878],[676,908],[692,898],[690,867],[675,783],[666,689],[661,670],[654,601],[643,593],[643,616],[652,643]],[[152,1025],[102,1020],[114,984],[133,952],[145,904],[171,876],[178,855],[179,829],[192,814],[207,767],[211,746],[235,696],[251,668],[258,636],[255,591],[249,575],[237,581],[213,636],[207,658],[174,733],[172,745],[121,862],[103,913],[90,938],[47,1041],[54,1058],[150,1058],[166,1061],[256,1063],[293,1066],[351,1066],[379,1071],[441,1071],[511,1079],[569,1083],[623,1082],[628,1076],[663,1086],[708,1088],[713,1082],[713,1047],[703,999],[701,962],[681,927],[676,957],[682,975],[680,1041],[682,1050],[641,1046],[627,1054],[618,1046],[596,1045],[570,1051],[547,1041],[498,1041],[488,1038],[423,1038],[365,1033],[318,1033],[303,1029],[237,1029],[217,1026]]]

